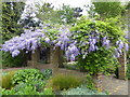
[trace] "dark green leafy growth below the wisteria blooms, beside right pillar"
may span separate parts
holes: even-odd
[[[88,54],[84,59],[82,59],[82,56],[79,56],[78,67],[81,70],[87,70],[91,74],[96,74],[99,72],[109,74],[118,67],[117,59],[112,56],[113,51],[102,47],[96,52]]]

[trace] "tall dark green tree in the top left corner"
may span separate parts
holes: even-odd
[[[24,2],[2,2],[2,41],[6,41],[23,32],[17,24],[24,10]]]

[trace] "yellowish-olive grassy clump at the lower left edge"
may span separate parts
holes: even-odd
[[[0,79],[0,83],[2,88],[6,88],[10,89],[11,87],[14,86],[14,84],[12,84],[12,78],[14,77],[15,71],[10,71],[5,74],[2,74],[2,79]]]

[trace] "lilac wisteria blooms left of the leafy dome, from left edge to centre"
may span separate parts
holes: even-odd
[[[60,46],[61,50],[66,51],[66,53],[69,52],[69,54],[65,54],[67,59],[75,60],[75,57],[78,55],[77,53],[79,51],[75,43],[70,40],[72,33],[65,26],[57,30],[57,34],[52,34],[56,36],[56,40],[51,40],[49,38],[50,33],[47,29],[36,29],[35,31],[25,29],[24,31],[25,33],[22,33],[20,37],[15,37],[6,41],[2,45],[1,50],[10,52],[12,57],[17,56],[23,50],[26,50],[26,53],[28,53],[28,51],[32,51],[32,53],[35,53],[35,50],[41,46],[40,40],[43,39],[43,42],[54,45],[54,47]]]

